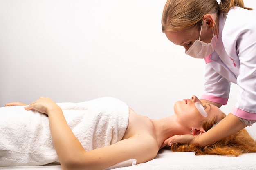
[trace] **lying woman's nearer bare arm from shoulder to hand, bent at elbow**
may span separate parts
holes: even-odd
[[[61,108],[51,99],[41,97],[25,109],[49,116],[52,140],[63,170],[101,170],[129,159],[142,163],[153,159],[158,151],[153,152],[155,139],[145,133],[87,152],[69,128]]]

